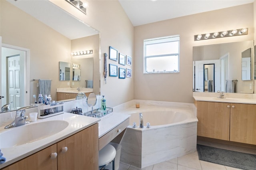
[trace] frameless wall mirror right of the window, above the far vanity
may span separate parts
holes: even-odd
[[[244,41],[193,47],[193,91],[253,93],[253,45]]]

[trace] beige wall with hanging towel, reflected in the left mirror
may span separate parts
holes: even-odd
[[[30,101],[33,94],[38,96],[38,81],[32,79],[52,79],[51,95],[56,100],[56,88],[67,87],[66,81],[58,81],[58,62],[70,62],[71,41],[12,4],[4,0],[0,4],[2,43],[30,49]]]

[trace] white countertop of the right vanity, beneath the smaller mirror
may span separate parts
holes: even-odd
[[[250,98],[231,98],[231,97],[218,98],[218,97],[204,97],[204,96],[193,96],[193,97],[196,101],[256,104],[256,99],[250,99]]]

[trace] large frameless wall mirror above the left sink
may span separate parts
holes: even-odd
[[[24,86],[22,87],[24,94],[10,99],[7,92],[6,79],[8,77],[6,74],[1,74],[1,93],[7,92],[4,94],[4,100],[1,100],[1,107],[12,100],[20,103],[17,107],[11,105],[12,110],[34,103],[33,95],[38,96],[38,79],[52,80],[52,100],[57,99],[57,88],[86,87],[86,81],[93,84],[90,86],[93,88],[93,93],[100,95],[100,32],[98,30],[81,22],[48,0],[1,0],[0,3],[0,36],[4,47],[7,46],[9,49],[18,47],[25,51],[25,57],[20,57],[20,59],[24,58],[20,62],[24,74],[19,79],[20,85]],[[66,1],[63,3],[68,4]],[[78,10],[78,12],[80,11]],[[73,51],[88,49],[93,50],[92,54],[86,55],[87,58],[91,58],[86,62],[86,64],[90,63],[90,66],[82,63],[83,58],[86,58],[85,55],[80,55],[79,58],[71,56]],[[6,62],[3,62],[6,61],[6,56],[13,55],[16,54],[1,55],[1,71],[7,65]],[[28,57],[26,57],[27,55]],[[70,67],[65,67],[63,70],[60,68],[62,62],[69,63]],[[76,73],[73,75],[73,63],[80,65],[80,81],[73,79],[79,76],[75,76],[79,71],[74,71]],[[68,68],[70,69],[68,70]],[[91,70],[84,71],[83,69],[86,68]],[[70,71],[69,74],[68,71]],[[83,77],[88,73],[90,76]],[[63,74],[65,79],[63,79]],[[78,78],[76,79],[78,80]]]

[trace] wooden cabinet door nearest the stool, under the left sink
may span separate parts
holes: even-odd
[[[98,123],[57,143],[59,170],[98,170]],[[68,150],[62,153],[62,148]]]

